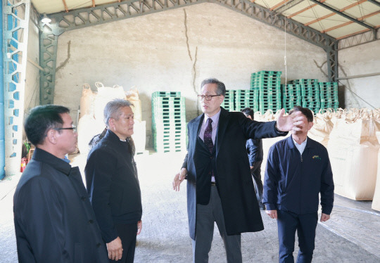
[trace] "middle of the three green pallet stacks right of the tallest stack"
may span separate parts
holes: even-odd
[[[301,106],[312,110],[314,113],[318,113],[321,108],[318,79],[295,79],[290,83],[300,85]]]

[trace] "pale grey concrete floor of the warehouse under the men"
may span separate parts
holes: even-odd
[[[143,201],[143,229],[138,236],[135,262],[191,262],[191,239],[186,216],[186,182],[172,191],[172,178],[184,154],[138,155]],[[83,158],[73,163],[80,166]],[[13,193],[20,175],[0,182],[0,262],[18,262],[13,229]],[[265,230],[243,233],[243,262],[278,262],[277,224],[262,211]],[[317,226],[313,262],[380,262],[380,213],[371,202],[336,195],[331,219]],[[296,244],[296,252],[298,250]],[[296,252],[294,253],[296,257]],[[210,262],[226,262],[215,226]]]

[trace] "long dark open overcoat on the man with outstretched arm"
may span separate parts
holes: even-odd
[[[246,141],[286,133],[278,133],[274,128],[275,122],[255,122],[243,113],[229,113],[223,108],[221,110],[215,139],[215,180],[222,201],[227,234],[261,231],[264,226],[249,168]],[[204,174],[205,165],[196,143],[203,119],[204,114],[188,124],[188,153],[182,165],[187,169],[187,212],[190,237],[193,239],[196,236],[196,185],[198,177]]]

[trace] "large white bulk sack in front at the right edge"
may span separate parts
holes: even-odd
[[[335,193],[353,200],[372,200],[380,144],[379,110],[338,110],[331,122],[327,150]]]

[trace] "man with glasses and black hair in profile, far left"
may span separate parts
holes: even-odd
[[[108,262],[80,170],[65,158],[77,143],[69,109],[38,106],[24,127],[36,148],[13,197],[18,262]]]

